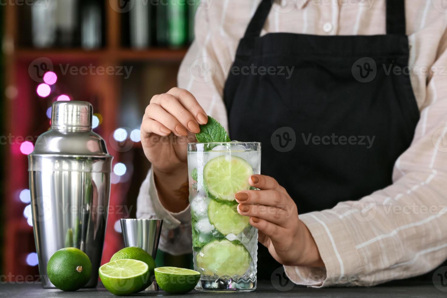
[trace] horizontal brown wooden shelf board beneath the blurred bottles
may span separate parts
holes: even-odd
[[[180,63],[187,49],[149,48],[147,50],[17,49],[16,59],[32,61],[41,57],[58,61],[110,59],[121,61],[169,61]]]

